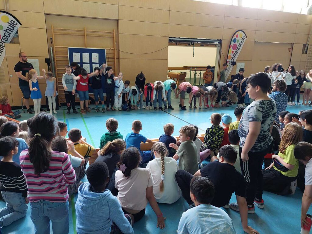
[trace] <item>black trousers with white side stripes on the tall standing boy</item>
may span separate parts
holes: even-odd
[[[248,161],[241,160],[241,147],[239,147],[239,157],[241,163],[241,173],[246,180],[246,201],[247,205],[253,205],[255,196],[262,199],[263,177],[262,164],[267,149],[261,152],[248,152]],[[257,195],[256,195],[257,194]]]

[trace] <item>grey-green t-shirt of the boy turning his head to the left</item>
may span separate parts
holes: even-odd
[[[179,169],[192,175],[198,171],[197,148],[192,140],[183,141],[177,151],[179,156]]]

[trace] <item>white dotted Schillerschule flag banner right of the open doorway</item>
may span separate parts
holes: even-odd
[[[230,75],[233,69],[233,62],[236,62],[236,59],[241,52],[245,41],[247,39],[246,33],[242,30],[237,30],[232,37],[230,42],[229,51],[227,53],[227,70],[225,71],[225,80]]]

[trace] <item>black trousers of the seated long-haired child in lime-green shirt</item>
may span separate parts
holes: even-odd
[[[290,194],[290,183],[297,179],[297,177],[285,176],[274,168],[263,170],[262,175],[263,190],[279,195]]]

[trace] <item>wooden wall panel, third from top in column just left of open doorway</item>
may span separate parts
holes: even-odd
[[[120,34],[169,36],[169,24],[119,20]]]

